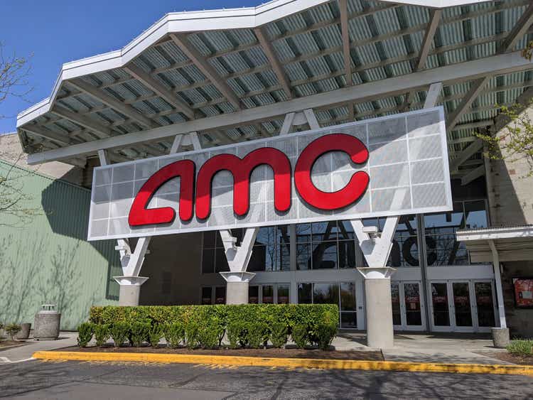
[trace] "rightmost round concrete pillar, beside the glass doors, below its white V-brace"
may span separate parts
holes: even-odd
[[[388,266],[357,268],[365,277],[365,310],[367,317],[367,346],[379,349],[394,347],[392,327],[392,298]]]

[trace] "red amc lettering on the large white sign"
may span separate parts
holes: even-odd
[[[364,171],[352,175],[348,185],[336,192],[323,192],[311,180],[313,164],[330,151],[343,151],[356,164],[368,160],[368,150],[362,141],[346,134],[322,136],[303,149],[294,168],[294,185],[301,198],[320,210],[338,210],[357,201],[367,190],[369,176]],[[211,182],[220,171],[233,175],[233,210],[246,215],[249,210],[249,180],[254,168],[267,165],[274,171],[274,207],[280,212],[291,207],[291,163],[285,153],[276,148],[257,148],[239,158],[220,154],[206,161],[198,172],[195,193],[195,163],[176,161],[151,175],[134,199],[129,211],[129,225],[158,225],[173,222],[176,211],[172,207],[147,208],[158,188],[173,178],[180,178],[179,217],[188,221],[193,217],[193,207],[200,220],[209,218],[211,212]],[[195,198],[195,199],[194,199]]]

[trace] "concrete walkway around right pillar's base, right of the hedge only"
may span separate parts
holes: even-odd
[[[365,333],[341,330],[332,345],[337,350],[375,350],[365,342]],[[505,351],[493,347],[490,335],[472,333],[395,333],[394,347],[382,349],[387,361],[468,364],[507,364],[488,356],[489,352]]]

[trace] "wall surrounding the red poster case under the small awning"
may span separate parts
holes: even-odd
[[[502,288],[505,303],[505,318],[511,337],[533,338],[533,308],[516,308],[512,278],[533,277],[533,261],[513,261],[503,264]]]

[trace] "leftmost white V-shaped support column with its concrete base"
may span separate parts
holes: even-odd
[[[100,165],[107,166],[107,152],[98,151]],[[141,295],[141,285],[148,281],[146,276],[139,276],[144,256],[148,251],[151,237],[139,237],[135,246],[135,251],[131,252],[129,239],[117,239],[117,250],[120,254],[120,264],[122,266],[122,276],[113,276],[113,279],[120,285],[119,306],[139,306]]]

